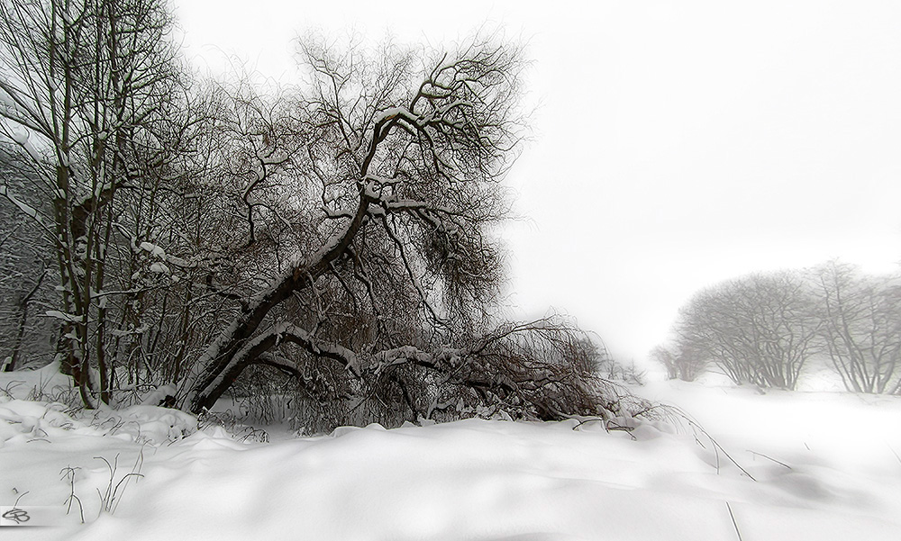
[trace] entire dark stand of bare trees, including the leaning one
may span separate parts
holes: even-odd
[[[498,315],[520,47],[310,35],[277,88],[196,76],[173,24],[0,3],[5,369],[54,357],[87,407],[290,395],[323,428],[622,410],[597,340]]]

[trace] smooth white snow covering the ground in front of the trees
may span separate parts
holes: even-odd
[[[901,397],[638,390],[722,450],[687,425],[630,435],[574,420],[267,428],[264,444],[173,410],[16,400],[35,384],[53,394],[65,380],[52,372],[0,374],[0,506],[58,524],[4,539],[901,538]]]

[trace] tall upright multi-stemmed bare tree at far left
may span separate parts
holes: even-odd
[[[141,164],[161,157],[154,122],[177,95],[168,12],[156,0],[9,0],[0,21],[0,133],[28,162],[29,190],[44,204],[0,191],[53,247],[61,301],[48,313],[62,323],[63,370],[93,405],[109,400],[114,202],[146,172]]]

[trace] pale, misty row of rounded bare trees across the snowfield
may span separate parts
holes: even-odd
[[[827,361],[851,392],[901,392],[901,277],[836,261],[714,285],[679,311],[674,339],[651,356],[670,378],[716,368],[734,383],[795,389]]]

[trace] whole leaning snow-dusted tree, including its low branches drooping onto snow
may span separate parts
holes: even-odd
[[[177,399],[210,408],[268,366],[306,392],[396,402],[412,418],[606,411],[614,394],[576,329],[492,329],[503,262],[490,231],[521,141],[520,51],[489,38],[446,54],[307,40],[302,53],[310,84],[288,106],[234,91],[224,124],[241,133],[228,167],[238,244],[268,259],[232,272],[233,320]]]

